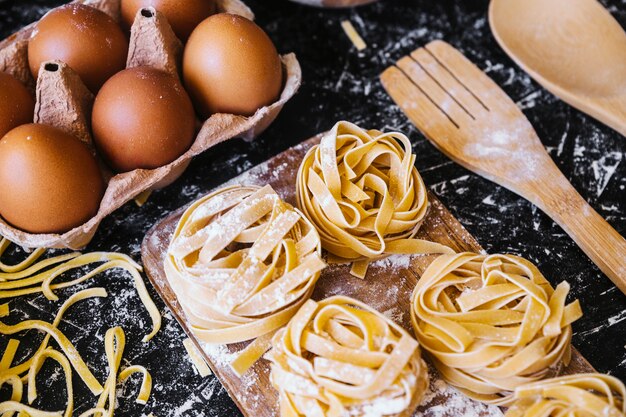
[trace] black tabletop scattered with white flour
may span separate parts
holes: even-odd
[[[0,37],[37,19],[58,0],[0,0]],[[626,234],[626,138],[572,109],[533,82],[500,50],[486,20],[487,1],[381,1],[352,10],[320,10],[286,0],[249,0],[258,23],[281,52],[296,52],[304,82],[274,125],[253,143],[233,140],[196,158],[176,183],[138,208],[127,204],[101,226],[88,250],[122,251],[140,260],[145,232],[184,205],[300,141],[348,119],[368,128],[405,132],[413,141],[416,165],[426,183],[489,252],[511,252],[534,261],[556,284],[567,280],[585,317],[574,324],[574,344],[601,372],[626,380],[626,297],[546,215],[513,193],[466,171],[439,153],[411,126],[386,95],[379,73],[399,57],[433,39],[445,39],[488,72],[517,101],[544,145],[578,191],[622,235]],[[626,0],[603,3],[626,26]],[[358,53],[340,28],[350,19],[368,43]],[[2,192],[0,190],[0,192]],[[19,253],[17,254],[19,255]],[[152,291],[163,313],[163,330],[152,342],[150,327],[129,277],[113,271],[84,287],[104,286],[109,297],[85,301],[68,311],[60,329],[75,343],[100,380],[106,375],[103,336],[120,325],[127,334],[123,366],[141,364],[154,378],[146,406],[135,404],[137,379],[119,388],[116,415],[231,416],[236,407],[212,376],[201,378],[182,346],[186,337]],[[59,291],[61,300],[76,289]],[[43,296],[11,300],[7,320],[51,321],[60,302]],[[18,359],[32,352],[41,335],[28,332]],[[8,338],[0,336],[0,351]],[[64,408],[64,379],[47,364],[34,403]],[[77,414],[95,404],[74,375]],[[8,391],[0,391],[0,400]]]

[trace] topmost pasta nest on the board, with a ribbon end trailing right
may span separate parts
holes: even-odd
[[[426,186],[401,133],[338,122],[305,155],[297,177],[298,207],[315,225],[331,263],[369,262],[389,254],[453,253],[415,239],[428,211]]]

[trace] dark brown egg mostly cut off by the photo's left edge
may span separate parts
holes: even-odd
[[[33,121],[35,100],[24,84],[0,72],[0,138],[9,130]]]

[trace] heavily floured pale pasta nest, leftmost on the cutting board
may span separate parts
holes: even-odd
[[[285,325],[325,267],[311,223],[268,185],[231,186],[192,204],[165,271],[195,336],[257,338]]]

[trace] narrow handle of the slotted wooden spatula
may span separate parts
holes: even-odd
[[[535,190],[541,190],[538,192],[540,198],[529,199],[552,217],[626,294],[626,240],[578,194],[565,177],[557,177],[556,181],[544,183]]]

